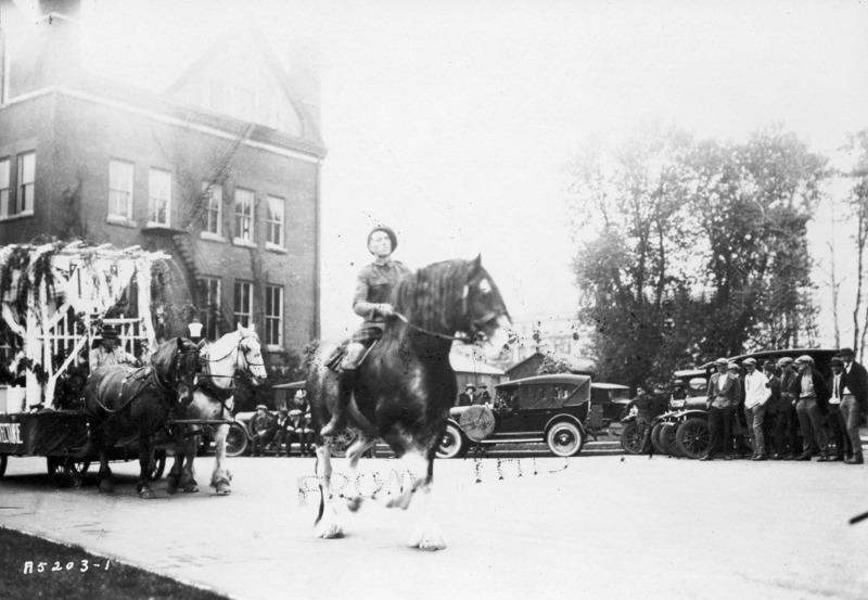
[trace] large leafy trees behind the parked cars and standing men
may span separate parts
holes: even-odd
[[[773,127],[743,143],[646,128],[569,166],[576,282],[599,374],[631,385],[808,343],[806,225],[826,158]]]

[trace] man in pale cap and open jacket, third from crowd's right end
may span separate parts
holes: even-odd
[[[822,413],[829,401],[829,386],[822,375],[814,368],[814,359],[807,355],[795,359],[799,369],[792,392],[797,395],[795,413],[802,429],[802,456],[796,460],[810,460],[810,441],[820,449],[820,462],[829,460],[829,443],[822,430]]]

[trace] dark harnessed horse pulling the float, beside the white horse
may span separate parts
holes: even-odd
[[[175,337],[161,344],[151,363],[141,369],[126,365],[103,367],[85,384],[85,410],[90,418],[90,445],[100,456],[100,492],[114,492],[108,450],[120,438],[138,436],[141,473],[139,496],[154,497],[148,484],[151,472],[152,437],[166,426],[178,403],[193,397],[199,347],[190,340]]]

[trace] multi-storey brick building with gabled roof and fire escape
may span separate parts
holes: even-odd
[[[0,244],[164,251],[171,306],[208,337],[255,323],[272,359],[301,353],[320,330],[316,69],[240,30],[152,93],[86,72],[78,0],[38,4],[0,0]]]

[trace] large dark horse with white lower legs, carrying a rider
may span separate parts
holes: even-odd
[[[459,333],[464,341],[478,342],[490,354],[499,353],[509,340],[509,314],[478,257],[420,269],[398,283],[393,305],[399,317],[387,323],[383,339],[359,366],[348,414],[349,429],[360,435],[347,450],[347,476],[355,476],[362,452],[378,438],[384,439],[400,459],[401,482],[405,474],[409,475],[408,485],[401,484],[387,506],[406,509],[411,495],[420,492],[421,526],[412,544],[424,550],[438,550],[446,544],[427,520],[425,505],[435,452],[458,391],[449,365],[454,335]],[[326,365],[330,357],[330,349],[318,349],[308,370],[307,394],[316,432],[329,421],[337,393],[337,374]],[[320,489],[317,535],[342,537],[331,488],[331,439],[317,434],[316,446]],[[361,500],[356,494],[347,501],[350,510],[356,510]]]

